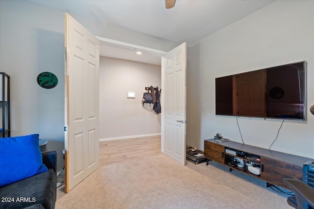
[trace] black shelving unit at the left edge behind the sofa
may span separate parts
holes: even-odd
[[[11,137],[10,76],[0,72],[0,138]]]

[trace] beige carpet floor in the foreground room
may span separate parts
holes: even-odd
[[[186,166],[164,154],[99,167],[59,196],[56,209],[289,209],[286,197],[214,162]],[[225,168],[224,168],[225,167]],[[223,169],[223,170],[222,170]],[[228,169],[229,170],[229,169]],[[245,175],[248,176],[248,175]]]

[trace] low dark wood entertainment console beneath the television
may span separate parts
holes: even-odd
[[[232,149],[237,152],[237,155],[226,153],[227,149]],[[247,166],[243,168],[235,166],[229,166],[228,162],[234,157],[249,161],[244,156],[240,155],[245,153],[246,155],[254,155],[260,157],[260,163],[256,163],[261,166],[261,175],[255,175],[251,173]],[[283,178],[298,179],[303,181],[303,164],[313,159],[300,157],[296,155],[290,155],[287,153],[277,152],[273,150],[263,149],[247,144],[238,143],[235,141],[219,142],[215,139],[204,140],[204,155],[205,158],[222,163],[232,169],[239,170],[248,175],[262,179],[267,183],[267,186],[278,185],[289,189],[289,187],[283,182]],[[208,162],[209,162],[208,160]],[[207,164],[208,164],[207,162]]]

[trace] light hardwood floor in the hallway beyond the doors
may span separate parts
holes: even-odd
[[[99,166],[161,154],[160,135],[99,142]]]

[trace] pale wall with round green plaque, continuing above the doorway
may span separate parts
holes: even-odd
[[[167,51],[177,43],[73,15],[94,35]],[[158,47],[157,47],[158,46]],[[38,133],[64,148],[64,12],[25,0],[0,0],[0,71],[11,78],[11,135]],[[37,75],[54,73],[58,85],[43,89]]]

